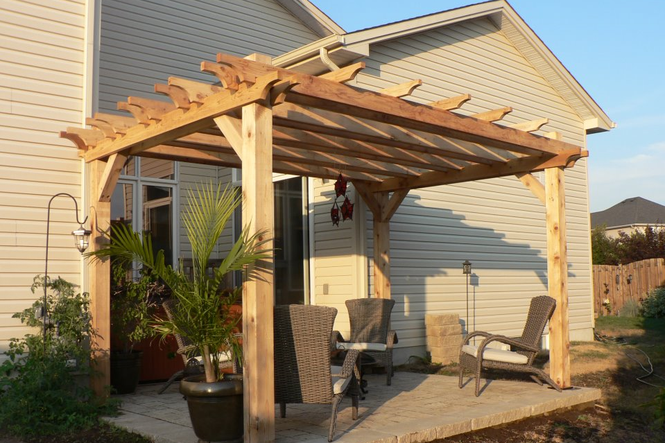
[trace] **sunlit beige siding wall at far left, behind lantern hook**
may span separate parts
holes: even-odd
[[[46,207],[80,204],[80,161],[58,132],[83,118],[85,1],[0,2],[0,352],[44,274]],[[74,203],[53,200],[49,275],[80,284]]]

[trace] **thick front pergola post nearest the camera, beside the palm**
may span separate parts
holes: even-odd
[[[266,56],[254,60],[270,63]],[[242,123],[243,223],[250,234],[267,231],[272,238],[273,110],[266,103],[246,105]],[[272,241],[266,247],[272,249]],[[248,271],[255,273],[243,284],[245,442],[269,443],[275,440],[273,259]]]

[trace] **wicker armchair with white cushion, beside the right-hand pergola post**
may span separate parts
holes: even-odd
[[[480,394],[481,370],[492,368],[522,372],[529,374],[531,379],[542,385],[543,381],[555,390],[561,388],[543,370],[533,366],[533,359],[540,349],[540,339],[545,325],[551,318],[556,307],[555,299],[542,295],[531,299],[529,312],[526,317],[524,331],[520,338],[492,335],[483,331],[470,333],[460,346],[460,381],[462,388],[462,374],[464,370],[474,372],[476,376],[476,397]],[[481,336],[483,341],[478,346],[469,345],[469,340]],[[501,342],[510,345],[511,351],[487,347],[490,342]]]

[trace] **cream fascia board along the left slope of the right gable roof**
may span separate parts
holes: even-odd
[[[361,31],[343,35],[343,43],[351,49],[352,46],[355,46],[356,44],[385,42],[386,40],[404,37],[405,35],[422,33],[423,31],[429,31],[430,29],[449,26],[460,21],[500,15],[504,6],[507,4],[508,3],[503,0],[488,1],[477,5],[424,15],[423,17],[416,17],[415,19],[397,21],[383,26],[363,29]],[[496,18],[490,18],[496,21]]]

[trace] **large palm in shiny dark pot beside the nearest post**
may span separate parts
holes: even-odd
[[[265,233],[249,235],[245,227],[212,275],[208,274],[209,258],[240,204],[241,197],[228,187],[207,184],[189,192],[182,221],[191,243],[191,274],[184,272],[182,265],[166,265],[164,251],[153,251],[149,236],[124,225],[113,227],[110,244],[92,253],[124,263],[137,261],[171,290],[173,315],[156,320],[154,327],[162,337],[186,336],[202,356],[205,375],[184,379],[180,390],[187,398],[194,433],[205,441],[239,440],[243,435],[241,376],[224,374],[219,369],[221,351],[231,350],[234,358],[241,358],[241,345],[235,335],[237,315],[230,313],[241,288],[222,294],[220,286],[229,272],[244,270],[248,264],[270,257],[266,240],[259,239]]]

